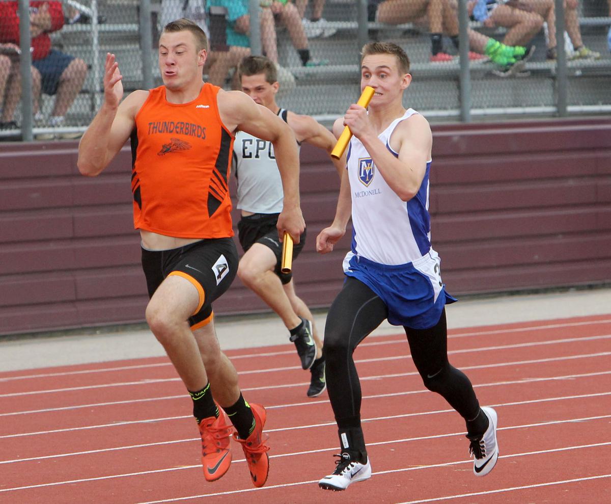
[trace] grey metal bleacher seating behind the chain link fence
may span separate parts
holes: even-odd
[[[107,21],[98,25],[98,62],[103,64],[107,51],[115,53],[124,76],[124,87],[131,91],[142,86],[137,2],[114,0],[112,4],[120,6],[120,9],[103,11]],[[358,94],[360,48],[356,2],[327,0],[324,15],[337,32],[326,39],[310,39],[309,46],[312,56],[327,60],[327,65],[302,67],[285,29],[278,31],[278,48],[280,64],[296,78],[295,89],[281,94],[280,102],[287,108],[327,122],[343,114],[349,101]],[[611,57],[606,40],[611,18],[605,15],[604,10],[589,9],[587,15],[580,17],[585,44],[603,57],[598,61],[568,62],[568,105],[573,112],[596,113],[611,109]],[[500,29],[490,31],[478,24],[472,24],[472,28],[496,39],[503,36]],[[54,35],[54,43],[64,51],[92,62],[95,54],[89,30],[88,25],[65,26]],[[430,38],[425,29],[411,24],[370,23],[369,35],[370,39],[398,43],[409,54],[414,80],[405,95],[406,105],[423,111],[428,117],[456,119],[459,109],[458,60],[443,64],[428,62]],[[489,62],[470,64],[475,115],[554,113],[555,64],[545,61],[543,34],[538,35],[533,43],[536,52],[527,64],[530,76],[503,79],[492,74],[493,67]],[[449,43],[446,45],[450,46]],[[153,64],[153,75],[160,83],[156,54]],[[71,123],[88,124],[100,100],[101,73],[90,71],[83,92],[71,108]]]

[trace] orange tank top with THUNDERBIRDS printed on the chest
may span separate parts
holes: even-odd
[[[234,137],[222,124],[219,87],[169,103],[149,91],[131,134],[134,228],[178,238],[233,236],[229,172]]]

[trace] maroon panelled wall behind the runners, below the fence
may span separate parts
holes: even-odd
[[[142,322],[145,282],[123,149],[103,174],[76,169],[76,143],[0,144],[0,334]],[[314,252],[338,180],[302,147],[308,224],[298,292],[328,306],[349,236]],[[434,127],[433,245],[453,294],[611,281],[611,122],[584,119]],[[266,306],[236,280],[218,314]]]

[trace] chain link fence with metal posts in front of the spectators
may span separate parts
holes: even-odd
[[[159,33],[180,17],[211,37],[208,81],[238,89],[236,64],[266,54],[281,105],[326,124],[359,95],[359,51],[372,40],[406,50],[405,105],[433,120],[609,113],[609,2],[0,1],[0,139],[78,138],[103,100],[107,52],[126,94],[161,84]]]

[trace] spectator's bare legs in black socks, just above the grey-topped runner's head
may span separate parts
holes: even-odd
[[[299,54],[301,64],[304,67],[318,67],[320,65],[326,65],[326,60],[312,59],[310,56],[310,49],[305,36],[304,26],[301,24],[301,16],[295,4],[287,0],[261,0],[260,5],[263,7],[263,18],[262,20],[269,19],[269,14],[265,11],[269,10],[273,14],[276,23],[285,26],[288,30],[288,36],[291,39],[291,43],[295,47],[295,50]],[[267,16],[267,18],[265,17]],[[262,32],[264,28],[262,26]],[[278,62],[278,49],[277,49],[277,38],[276,31],[265,30],[263,34],[263,50],[266,56],[271,59],[274,63]]]

